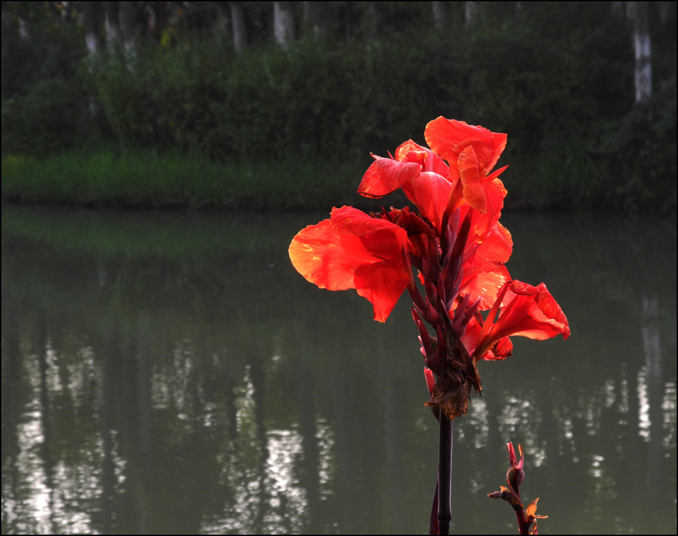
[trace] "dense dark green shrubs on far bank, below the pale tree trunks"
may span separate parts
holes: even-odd
[[[653,34],[650,112],[633,107],[631,32],[607,3],[483,4],[475,24],[457,13],[445,34],[413,5],[389,6],[378,31],[301,38],[286,52],[256,42],[236,54],[226,34],[201,29],[81,61],[77,74],[77,62],[44,76],[15,65],[8,97],[3,76],[3,153],[91,141],[98,113],[101,132],[133,149],[367,161],[423,143],[444,115],[509,133],[515,205],[675,209],[675,31]],[[3,31],[3,73],[5,51]]]

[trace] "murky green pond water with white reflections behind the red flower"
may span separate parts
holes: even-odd
[[[385,324],[287,246],[325,214],[2,209],[2,533],[427,533],[437,423]],[[454,423],[452,530],[525,450],[541,533],[676,531],[676,220],[504,214],[572,336],[514,338]]]

